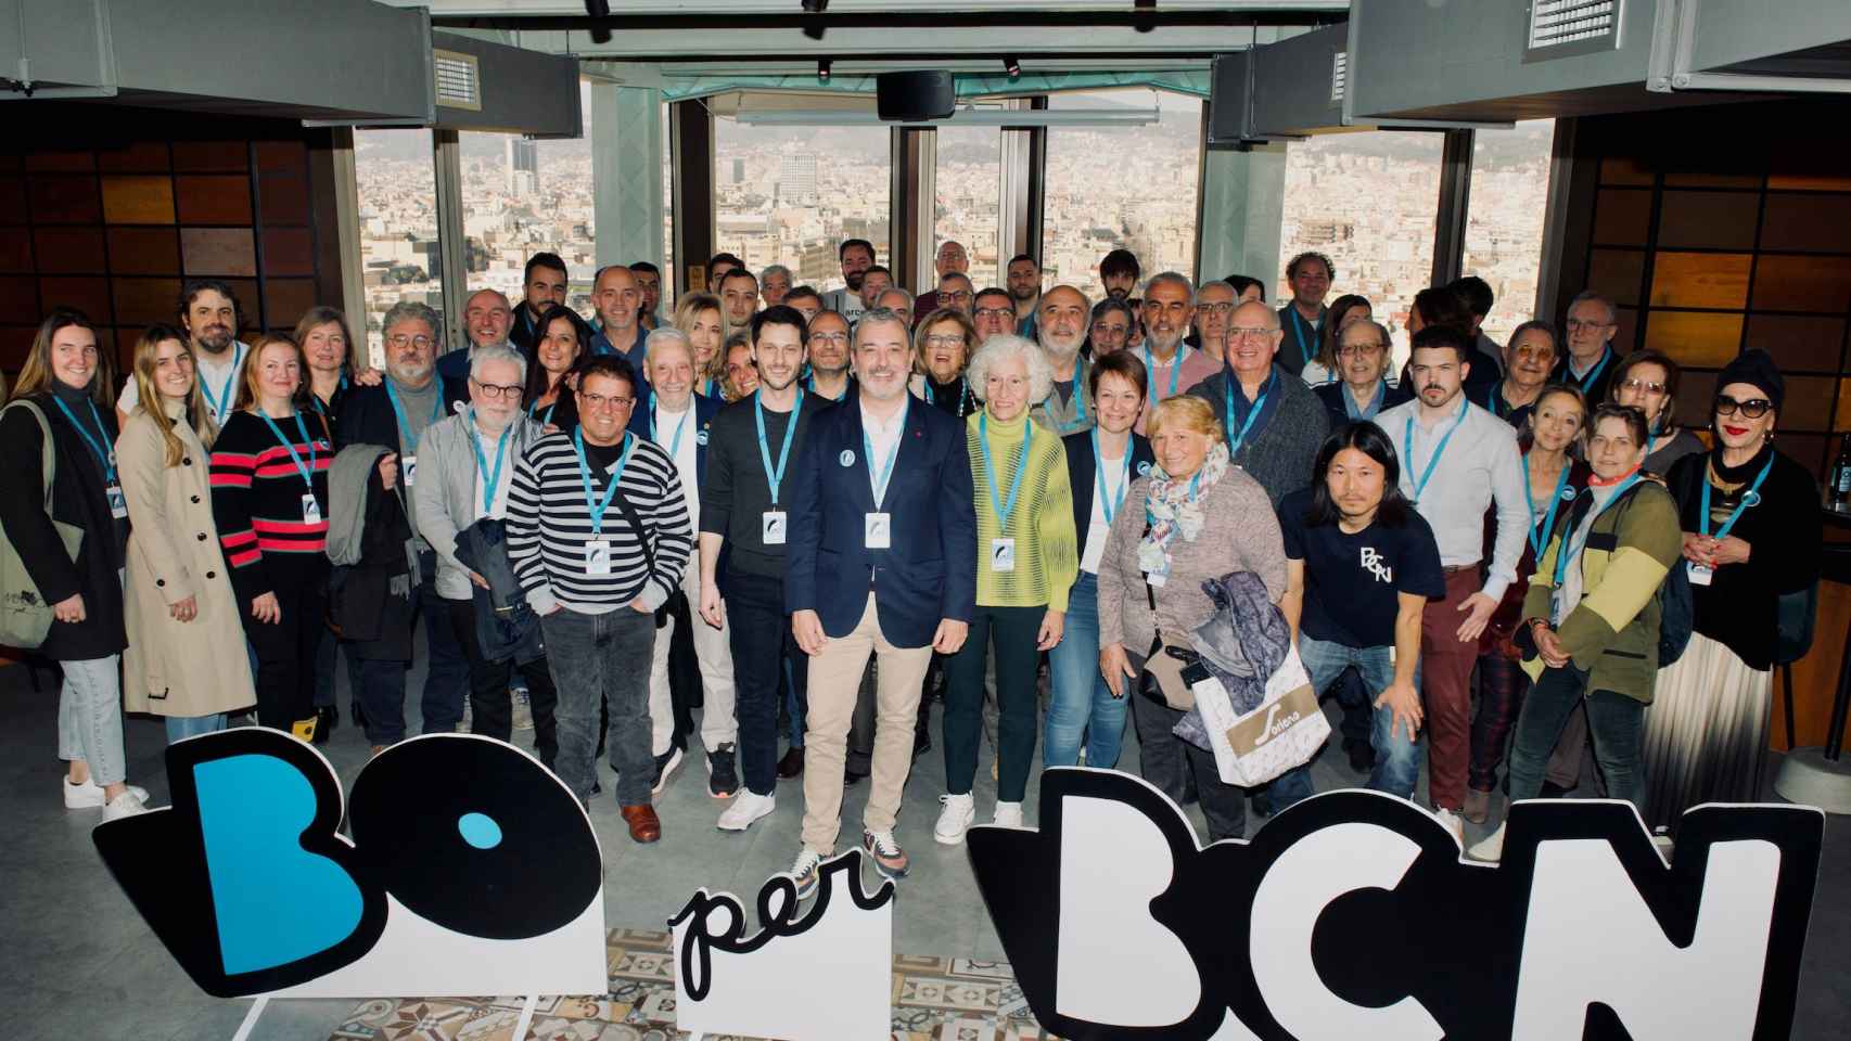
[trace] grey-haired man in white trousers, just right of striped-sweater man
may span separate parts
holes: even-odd
[[[629,410],[629,433],[653,442],[676,460],[681,486],[696,494],[683,496],[689,523],[700,531],[702,481],[707,479],[707,431],[720,401],[694,394],[694,344],[674,325],[652,329],[642,340],[642,370],[646,383],[637,386],[637,405]],[[687,745],[687,725],[677,721],[692,704],[692,686],[700,682],[700,736],[707,751],[707,795],[731,799],[739,791],[739,719],[733,716],[733,647],[726,627],[714,629],[696,621],[689,605],[700,603],[700,568],[681,573],[681,592],[687,603],[666,605],[666,625],[655,634],[655,655],[650,662],[650,723],[655,754],[655,793],[661,793],[681,767]],[[670,653],[683,643],[677,662],[698,660],[694,669],[670,669]],[[674,697],[679,690],[681,697]]]

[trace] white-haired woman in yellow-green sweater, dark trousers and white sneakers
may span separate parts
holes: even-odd
[[[1079,573],[1074,492],[1061,438],[1029,422],[1029,405],[1048,398],[1053,372],[1040,348],[1022,337],[992,337],[970,359],[970,385],[983,410],[966,420],[970,475],[977,501],[977,610],[970,638],[946,664],[944,810],[933,838],[964,841],[977,815],[970,782],[977,773],[983,664],[996,647],[996,823],[1022,825],[1022,793],[1035,760],[1035,669],[1061,642],[1066,590]]]

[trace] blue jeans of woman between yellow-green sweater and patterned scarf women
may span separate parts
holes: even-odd
[[[1112,697],[1099,675],[1099,577],[1081,571],[1066,594],[1066,634],[1048,651],[1048,697],[1042,765],[1075,765],[1087,738],[1087,765],[1118,765],[1125,736],[1125,699]],[[1131,680],[1118,690],[1131,693]]]

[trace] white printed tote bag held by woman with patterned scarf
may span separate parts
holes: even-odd
[[[1285,662],[1266,679],[1266,697],[1251,712],[1236,714],[1227,688],[1212,675],[1199,675],[1192,692],[1214,751],[1214,769],[1227,784],[1266,784],[1311,762],[1331,736],[1298,647],[1286,651]]]

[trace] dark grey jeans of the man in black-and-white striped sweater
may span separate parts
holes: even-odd
[[[640,614],[629,606],[605,614],[561,608],[540,618],[540,634],[553,686],[559,688],[559,753],[553,773],[579,802],[590,801],[590,786],[598,775],[602,699],[611,710],[605,747],[611,749],[611,769],[616,771],[616,804],[648,806],[650,786],[655,784],[648,669],[650,655],[655,653],[655,614]]]

